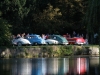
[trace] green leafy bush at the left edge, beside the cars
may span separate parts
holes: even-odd
[[[11,25],[7,21],[0,18],[0,46],[10,45],[11,43]]]

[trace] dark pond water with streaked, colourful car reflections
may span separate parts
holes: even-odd
[[[100,75],[100,57],[0,59],[0,75]]]

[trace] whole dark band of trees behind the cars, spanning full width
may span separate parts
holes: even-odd
[[[76,31],[93,37],[100,31],[99,12],[99,0],[1,0],[0,27],[11,25],[7,30],[11,34],[71,34]]]

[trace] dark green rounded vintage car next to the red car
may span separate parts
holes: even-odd
[[[64,38],[61,35],[50,35],[48,38],[57,40],[58,44],[62,44],[62,45],[67,45],[68,44],[68,41],[66,40],[66,38]]]

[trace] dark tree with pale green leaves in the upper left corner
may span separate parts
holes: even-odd
[[[12,33],[20,33],[25,29],[24,18],[27,17],[30,9],[26,5],[27,0],[1,0],[0,9],[2,18],[12,25]]]

